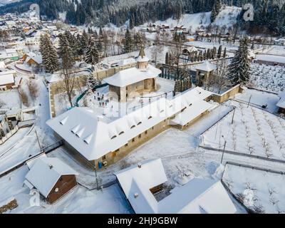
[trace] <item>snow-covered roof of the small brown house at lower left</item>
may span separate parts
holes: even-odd
[[[47,197],[63,175],[78,173],[56,157],[42,157],[36,160],[25,178],[41,192],[41,195]]]

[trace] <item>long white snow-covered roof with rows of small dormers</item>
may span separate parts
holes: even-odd
[[[96,160],[118,150],[135,136],[176,115],[183,108],[191,108],[191,103],[202,101],[210,95],[211,92],[197,87],[172,100],[155,100],[112,122],[100,118],[90,108],[73,108],[48,120],[47,125],[86,159]]]

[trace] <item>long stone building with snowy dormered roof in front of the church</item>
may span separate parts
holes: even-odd
[[[115,120],[97,115],[89,108],[73,108],[48,120],[47,125],[64,140],[73,155],[100,169],[170,127],[186,128],[213,107],[205,101],[211,95],[197,87],[172,100],[155,100]]]

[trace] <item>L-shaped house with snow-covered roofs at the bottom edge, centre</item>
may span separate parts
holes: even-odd
[[[192,179],[157,202],[155,193],[167,182],[161,159],[147,160],[115,172],[136,214],[234,214],[237,212],[220,180]]]

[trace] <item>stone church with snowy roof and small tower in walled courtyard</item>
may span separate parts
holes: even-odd
[[[118,101],[126,102],[128,98],[155,91],[157,89],[156,78],[162,72],[151,66],[149,61],[149,58],[145,56],[145,51],[141,49],[137,59],[138,66],[105,78],[104,82],[109,85],[110,94],[115,95]],[[110,100],[113,98],[114,96],[111,96]]]

